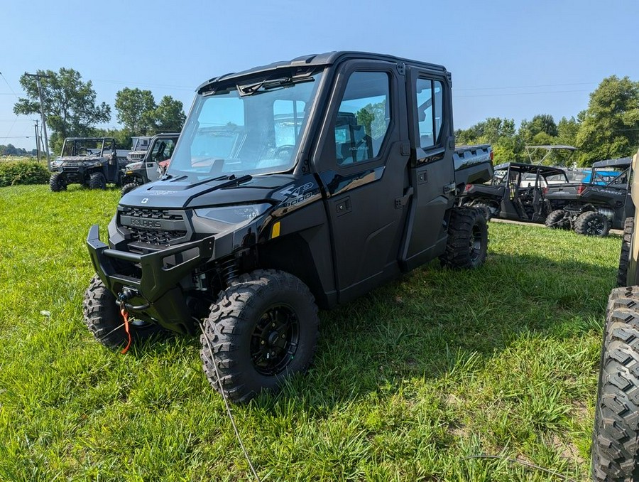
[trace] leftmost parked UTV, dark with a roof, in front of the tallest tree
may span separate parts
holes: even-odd
[[[51,163],[51,191],[64,191],[67,184],[79,183],[90,189],[107,184],[121,185],[121,168],[126,157],[119,157],[115,139],[108,137],[68,137],[62,154]]]

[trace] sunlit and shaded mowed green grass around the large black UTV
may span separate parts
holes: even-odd
[[[0,480],[250,479],[197,338],[120,355],[82,323],[84,240],[118,199],[0,188]],[[553,480],[481,454],[588,477],[620,238],[489,227],[485,267],[435,261],[322,312],[309,373],[233,407],[263,480]]]

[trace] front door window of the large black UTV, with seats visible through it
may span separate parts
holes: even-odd
[[[383,72],[349,77],[335,120],[337,165],[348,167],[378,156],[391,124],[390,79]]]

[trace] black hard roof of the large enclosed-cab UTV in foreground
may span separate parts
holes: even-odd
[[[201,94],[206,87],[216,82],[227,82],[233,79],[239,79],[241,77],[252,77],[256,74],[271,73],[277,70],[290,69],[290,68],[309,68],[320,67],[322,65],[332,65],[346,59],[361,59],[361,60],[386,60],[388,62],[406,63],[410,65],[416,65],[418,67],[427,68],[429,70],[438,70],[445,73],[446,68],[443,65],[437,65],[434,63],[420,62],[419,60],[410,60],[408,58],[395,57],[394,55],[386,55],[383,53],[370,53],[370,52],[326,52],[320,54],[303,55],[302,57],[296,57],[293,60],[283,60],[280,62],[274,62],[268,65],[262,65],[261,67],[251,68],[249,70],[242,70],[241,72],[228,73],[219,75],[219,77],[213,77],[212,79],[204,82],[200,87],[197,87],[197,92]]]

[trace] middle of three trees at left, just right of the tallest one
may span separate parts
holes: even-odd
[[[155,128],[155,99],[151,90],[124,89],[116,93],[117,119],[133,135],[146,135]]]

